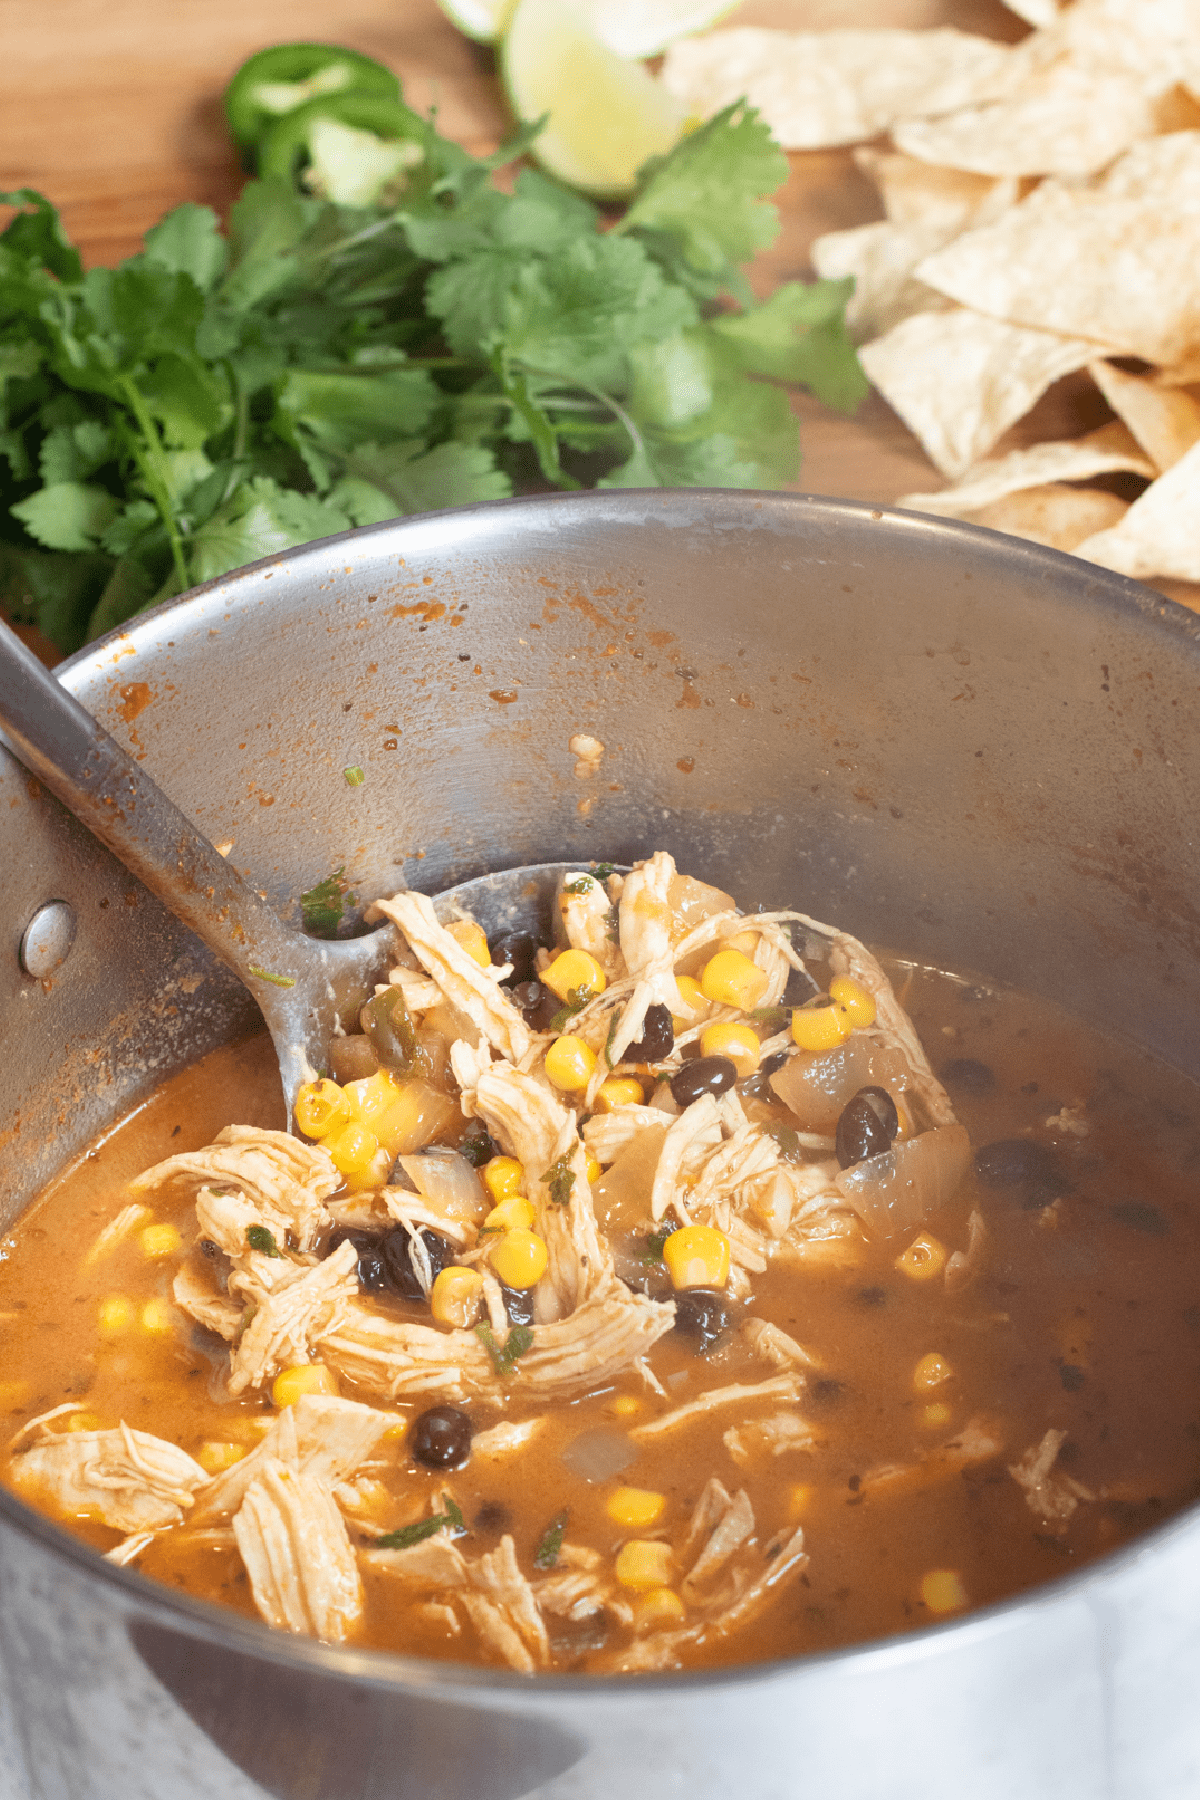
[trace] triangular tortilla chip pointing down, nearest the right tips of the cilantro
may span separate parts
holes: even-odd
[[[954,479],[986,455],[1051,382],[1081,369],[1092,355],[1079,338],[1025,331],[959,308],[914,313],[867,344],[860,362],[930,461]]]

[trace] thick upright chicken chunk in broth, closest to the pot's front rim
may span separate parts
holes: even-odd
[[[342,1643],[362,1616],[354,1550],[329,1483],[268,1458],[234,1516],[250,1591],[268,1625]]]

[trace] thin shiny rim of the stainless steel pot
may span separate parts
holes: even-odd
[[[1133,610],[1150,630],[1169,630],[1175,635],[1189,639],[1195,653],[1200,655],[1200,616],[1180,601],[1169,599],[1144,583],[1110,569],[1081,562],[1063,551],[1049,549],[1024,538],[1011,538],[984,526],[826,495],[757,490],[747,493],[725,488],[635,488],[480,500],[471,506],[419,513],[380,526],[363,526],[297,549],[279,551],[241,569],[216,576],[212,581],[205,581],[175,599],[162,601],[158,607],[139,614],[135,619],[113,628],[104,637],[94,639],[65,659],[58,664],[56,675],[72,691],[77,686],[85,686],[97,661],[106,659],[115,643],[128,644],[130,639],[149,639],[146,650],[153,650],[155,639],[160,635],[158,626],[162,619],[167,616],[187,617],[191,614],[189,625],[194,628],[201,619],[207,619],[214,601],[221,605],[221,610],[227,610],[250,599],[243,592],[248,587],[248,578],[273,578],[282,572],[293,580],[304,580],[311,565],[320,563],[326,556],[336,554],[340,560],[347,549],[372,549],[380,540],[389,540],[389,556],[394,554],[390,540],[398,538],[416,540],[414,547],[434,549],[437,547],[437,535],[446,527],[450,527],[452,540],[443,549],[470,549],[473,540],[489,535],[491,522],[497,517],[509,513],[527,513],[534,522],[538,517],[543,517],[547,526],[560,531],[569,527],[569,518],[561,515],[574,515],[576,511],[613,515],[617,520],[624,517],[633,527],[648,522],[673,526],[707,524],[714,529],[774,526],[781,536],[786,535],[783,526],[788,520],[795,520],[801,526],[806,520],[813,526],[837,526],[851,518],[882,524],[885,529],[900,529],[909,533],[909,536],[918,535],[927,542],[957,542],[975,558],[982,556],[986,562],[1000,562],[1013,574],[1051,581],[1058,590],[1060,601],[1087,607],[1088,612],[1094,612],[1097,607],[1105,610]],[[178,1593],[139,1573],[137,1568],[121,1568],[108,1562],[99,1550],[94,1550],[50,1517],[27,1507],[7,1487],[0,1487],[0,1519],[18,1535],[34,1539],[52,1555],[67,1557],[83,1575],[112,1584],[122,1595],[126,1609],[135,1609],[142,1615],[153,1613],[162,1624],[176,1629],[184,1627],[194,1638],[266,1660],[284,1669],[356,1679],[383,1690],[428,1692],[430,1688],[439,1688],[446,1697],[464,1696],[480,1701],[502,1701],[506,1705],[520,1699],[536,1705],[542,1696],[560,1696],[587,1705],[588,1696],[594,1696],[597,1703],[612,1703],[613,1699],[633,1699],[646,1692],[676,1694],[684,1690],[702,1694],[711,1687],[745,1687],[810,1672],[819,1674],[846,1661],[858,1665],[909,1661],[912,1656],[937,1654],[950,1638],[964,1642],[1015,1629],[1040,1607],[1060,1602],[1070,1604],[1085,1597],[1088,1588],[1130,1573],[1139,1561],[1169,1553],[1184,1534],[1196,1532],[1200,1503],[1162,1519],[1139,1537],[1078,1570],[1065,1571],[1015,1595],[1006,1595],[955,1618],[820,1652],[754,1663],[730,1663],[714,1669],[642,1672],[637,1676],[525,1676],[511,1669],[493,1669],[482,1663],[441,1661],[435,1658],[405,1656],[396,1651],[329,1645],[315,1638],[275,1631],[263,1620],[245,1618],[214,1602]]]

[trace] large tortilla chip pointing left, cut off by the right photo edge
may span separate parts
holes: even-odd
[[[1162,184],[1135,198],[1155,166]],[[1200,131],[1180,131],[1137,144],[1097,185],[1045,182],[916,274],[1011,324],[1171,364],[1200,342],[1198,266]]]

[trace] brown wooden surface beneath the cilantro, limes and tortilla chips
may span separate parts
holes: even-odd
[[[1024,34],[1000,0],[747,0],[738,23],[959,25]],[[405,99],[437,108],[439,128],[480,153],[509,126],[491,52],[462,38],[435,0],[0,0],[0,187],[38,187],[61,211],[88,265],[117,263],[182,200],[225,212],[241,182],[221,113],[237,65],[268,43],[351,45],[401,77]],[[880,216],[849,151],[792,157],[783,230],[752,270],[759,293],[810,277],[822,230]],[[855,419],[797,394],[799,488],[887,504],[941,477],[896,414],[871,396]],[[1108,416],[1083,378],[1060,382],[999,446],[1069,436]],[[1200,610],[1200,589],[1160,583]]]

